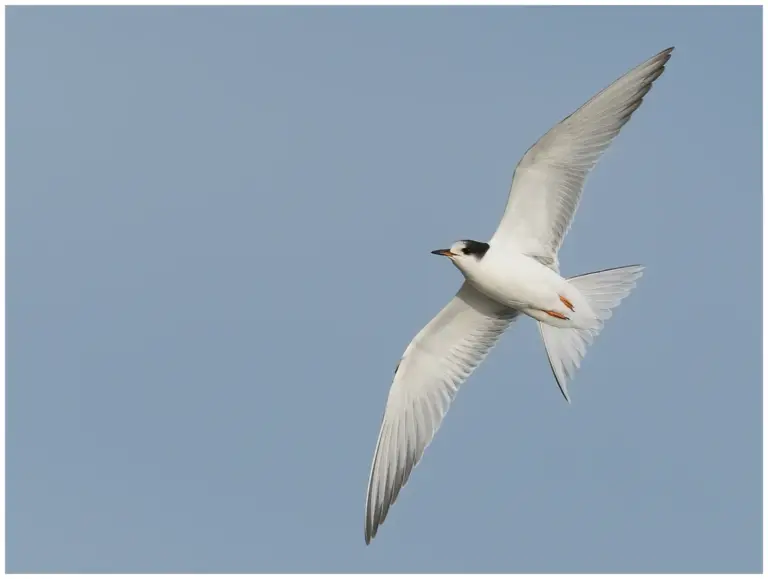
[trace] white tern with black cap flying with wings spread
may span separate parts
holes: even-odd
[[[664,72],[672,50],[626,73],[528,149],[488,243],[457,241],[432,252],[447,256],[465,281],[411,341],[395,370],[368,481],[366,543],[376,536],[459,386],[521,313],[539,322],[555,380],[570,401],[568,380],[643,268],[565,279],[557,253],[589,171]]]

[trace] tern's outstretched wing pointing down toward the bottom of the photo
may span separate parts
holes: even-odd
[[[440,426],[459,386],[483,361],[517,312],[468,282],[408,345],[395,371],[368,481],[365,542]]]

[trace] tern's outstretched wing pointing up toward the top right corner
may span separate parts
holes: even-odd
[[[528,149],[515,169],[491,245],[512,245],[557,268],[557,251],[587,174],[664,72],[672,50],[663,50],[626,73]]]

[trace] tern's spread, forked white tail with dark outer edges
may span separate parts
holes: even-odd
[[[587,347],[603,329],[612,310],[621,303],[643,275],[643,266],[627,265],[572,277],[568,282],[578,289],[597,316],[597,323],[589,330],[555,328],[539,322],[539,330],[547,350],[549,365],[557,385],[570,402],[568,380],[576,374]]]

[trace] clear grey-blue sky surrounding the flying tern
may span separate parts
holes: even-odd
[[[9,8],[7,565],[757,572],[760,8]],[[565,275],[643,263],[562,399],[531,320],[370,547],[392,373],[552,124],[667,46]]]

